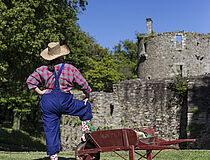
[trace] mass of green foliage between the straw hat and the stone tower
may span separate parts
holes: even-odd
[[[114,51],[103,49],[86,36],[82,52],[71,54],[71,63],[84,73],[93,91],[112,91],[112,85],[124,79],[137,78],[137,43],[120,41]]]

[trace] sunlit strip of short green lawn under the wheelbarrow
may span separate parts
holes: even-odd
[[[138,151],[139,152],[139,151]],[[154,153],[156,151],[153,151]],[[128,152],[118,152],[128,159]],[[140,151],[140,153],[143,153]],[[6,152],[0,151],[1,160],[47,160],[45,152]],[[101,153],[100,160],[121,160],[113,152]],[[138,159],[136,155],[136,159]],[[209,160],[210,150],[163,150],[154,159],[156,160]],[[59,160],[74,160],[74,152],[59,153]]]

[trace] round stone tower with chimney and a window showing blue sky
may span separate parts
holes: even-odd
[[[155,34],[152,20],[147,19],[147,34],[138,35],[138,55],[141,79],[205,75],[210,73],[210,33]]]

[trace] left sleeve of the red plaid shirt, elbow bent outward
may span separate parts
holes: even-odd
[[[40,82],[41,77],[37,72],[37,69],[26,80],[29,89],[36,88]]]

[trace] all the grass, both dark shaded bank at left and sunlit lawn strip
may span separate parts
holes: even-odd
[[[24,131],[0,128],[0,160],[49,160],[46,146]],[[39,151],[39,152],[38,152]],[[137,151],[144,154],[145,151]],[[128,159],[128,152],[118,152]],[[153,155],[156,151],[153,151]],[[136,159],[139,158],[135,154]],[[59,160],[74,160],[74,151],[60,152]],[[113,152],[101,153],[101,160],[121,160]],[[210,150],[163,150],[156,160],[210,160]]]

